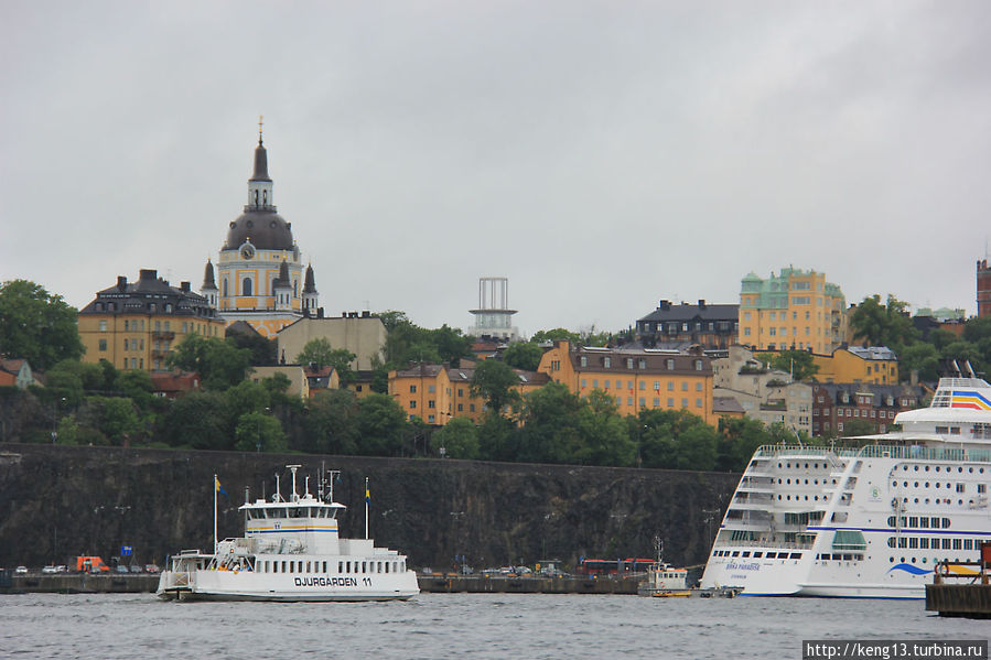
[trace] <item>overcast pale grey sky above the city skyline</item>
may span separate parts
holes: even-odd
[[[321,305],[622,329],[815,269],[973,313],[991,3],[7,0],[0,280],[198,288],[258,116]]]

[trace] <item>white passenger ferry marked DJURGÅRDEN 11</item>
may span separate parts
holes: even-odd
[[[279,494],[278,477],[272,501],[246,502],[245,535],[215,543],[213,553],[184,550],[170,561],[159,580],[157,594],[164,599],[212,601],[406,601],[420,593],[406,556],[376,548],[365,539],[342,539],[337,513],[344,505],[333,501],[328,486],[323,497]],[[331,479],[332,484],[333,479]],[[308,479],[309,484],[309,479]],[[218,484],[217,484],[218,486]],[[367,502],[367,490],[366,490]]]

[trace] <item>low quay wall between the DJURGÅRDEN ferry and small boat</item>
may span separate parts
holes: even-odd
[[[624,594],[636,595],[644,575],[591,578],[585,575],[508,576],[434,573],[417,575],[420,591],[430,594]]]

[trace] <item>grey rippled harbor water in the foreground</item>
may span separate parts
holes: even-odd
[[[988,639],[919,601],[421,594],[406,603],[0,596],[3,658],[801,658],[803,639]]]

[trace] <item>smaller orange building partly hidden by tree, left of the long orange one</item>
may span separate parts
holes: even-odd
[[[549,382],[543,374],[514,369],[519,385],[513,389],[526,396]],[[412,419],[419,416],[428,424],[445,425],[453,418],[481,422],[485,401],[472,396],[473,367],[449,367],[420,364],[409,369],[389,372],[389,394]]]

